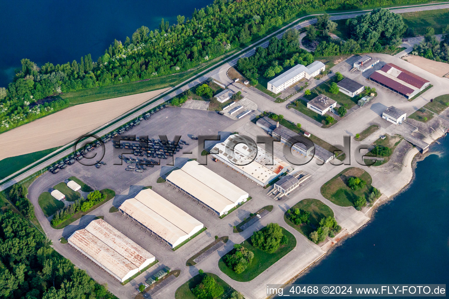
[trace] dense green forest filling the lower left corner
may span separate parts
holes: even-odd
[[[20,215],[2,213],[0,224],[1,298],[116,299]]]

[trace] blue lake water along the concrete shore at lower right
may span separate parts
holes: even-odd
[[[439,141],[406,191],[295,283],[449,284],[449,138]]]

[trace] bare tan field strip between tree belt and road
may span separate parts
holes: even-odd
[[[0,148],[0,160],[67,144],[169,88],[79,104],[19,126],[1,134],[10,146]]]

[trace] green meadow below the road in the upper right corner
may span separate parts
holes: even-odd
[[[449,24],[449,9],[435,9],[411,13],[401,13],[404,22],[413,28],[417,35],[424,35],[426,27],[433,27],[435,34],[443,33],[443,28]]]

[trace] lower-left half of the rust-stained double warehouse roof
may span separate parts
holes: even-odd
[[[131,271],[138,270],[131,261],[125,259],[85,229],[75,231],[68,241],[118,277],[126,277]]]

